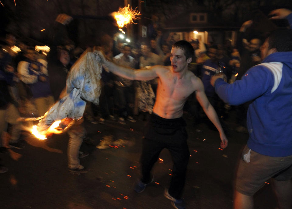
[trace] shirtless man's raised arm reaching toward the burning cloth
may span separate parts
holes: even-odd
[[[158,69],[161,66],[152,66],[149,69],[138,69],[135,70],[129,67],[123,67],[116,65],[115,63],[107,60],[102,52],[98,52],[98,54],[103,59],[103,67],[108,69],[110,72],[121,76],[123,78],[127,78],[129,80],[152,80],[158,77]]]

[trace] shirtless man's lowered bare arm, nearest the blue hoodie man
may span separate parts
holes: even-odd
[[[220,145],[224,149],[228,145],[228,140],[227,140],[225,133],[222,129],[222,126],[219,122],[219,118],[217,116],[217,113],[215,112],[213,106],[210,104],[210,102],[205,94],[204,86],[203,86],[203,83],[201,80],[197,81],[197,86],[198,87],[196,90],[196,98],[197,98],[198,102],[200,103],[200,105],[202,106],[204,112],[206,113],[206,115],[210,119],[210,121],[214,124],[214,126],[219,131],[220,139],[221,139]]]

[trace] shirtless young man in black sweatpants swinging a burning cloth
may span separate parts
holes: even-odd
[[[158,78],[157,96],[150,123],[143,140],[141,155],[142,178],[135,191],[142,192],[153,181],[151,169],[159,153],[167,148],[173,158],[172,180],[165,197],[172,200],[175,208],[185,208],[181,199],[189,160],[187,133],[182,119],[183,106],[193,92],[208,118],[220,133],[221,147],[227,147],[228,140],[220,125],[218,116],[210,105],[202,81],[188,70],[194,49],[187,41],[177,41],[171,50],[171,66],[152,66],[150,69],[133,70],[115,65],[104,59],[103,66],[112,73],[130,80],[152,80]],[[102,53],[101,53],[101,56]]]

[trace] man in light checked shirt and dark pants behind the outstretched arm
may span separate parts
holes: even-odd
[[[124,67],[135,67],[135,59],[130,56],[132,47],[124,44],[122,53],[113,58],[113,62]],[[125,124],[125,119],[136,122],[133,118],[134,87],[133,81],[120,76],[115,76],[116,102],[119,108],[119,122]],[[130,107],[132,106],[132,107]]]

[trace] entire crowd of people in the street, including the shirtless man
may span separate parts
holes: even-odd
[[[272,14],[274,19],[287,18],[292,27],[292,11],[278,9]],[[83,52],[64,30],[70,20],[64,14],[56,19],[49,54],[16,40],[13,34],[6,35],[6,45],[0,50],[1,154],[8,148],[24,148],[18,118],[44,115],[66,93],[70,67]],[[87,102],[84,118],[92,123],[117,120],[123,125],[125,120],[149,121],[136,192],[141,193],[153,181],[151,168],[162,149],[167,148],[174,168],[165,197],[175,208],[185,208],[181,194],[189,149],[183,112],[189,112],[198,123],[203,110],[212,122],[210,127],[219,131],[221,147],[225,148],[226,129],[218,115],[228,114],[232,107],[238,119],[236,130],[249,133],[239,164],[234,207],[253,208],[252,196],[273,177],[280,208],[290,208],[292,34],[290,29],[277,30],[266,39],[257,35],[246,39],[245,31],[251,25],[251,20],[243,23],[236,44],[230,40],[210,44],[198,39],[162,40],[159,28],[151,40],[138,47],[123,43],[117,34],[100,38],[100,103]],[[224,74],[217,75],[219,71]],[[32,122],[26,123],[32,126]],[[88,155],[79,151],[85,132],[82,122],[68,132],[71,172],[88,172],[79,161]],[[110,143],[104,140],[98,148],[107,148]],[[0,173],[7,171],[0,166]]]

